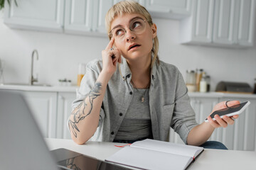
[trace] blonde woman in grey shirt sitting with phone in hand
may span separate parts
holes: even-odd
[[[105,21],[110,42],[102,50],[102,60],[87,64],[68,120],[76,143],[165,141],[171,127],[187,145],[200,146],[215,128],[232,125],[238,118],[217,115],[213,121],[208,116],[209,123],[196,123],[181,73],[159,60],[156,24],[146,8],[121,1],[110,8]],[[223,101],[213,111],[238,103]]]

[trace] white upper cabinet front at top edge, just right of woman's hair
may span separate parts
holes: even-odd
[[[191,0],[151,0],[146,1],[146,8],[149,11],[189,16],[191,13]]]

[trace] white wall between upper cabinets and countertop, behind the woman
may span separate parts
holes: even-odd
[[[211,90],[218,81],[245,81],[256,78],[256,47],[245,50],[179,44],[179,22],[155,19],[159,56],[176,65],[186,79],[186,69],[203,68],[211,76]],[[4,60],[6,83],[28,82],[31,52],[39,53],[39,82],[56,85],[58,79],[76,84],[78,63],[101,58],[107,38],[63,33],[14,30],[4,25],[0,11],[0,58]]]

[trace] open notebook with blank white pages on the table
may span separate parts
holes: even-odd
[[[105,161],[139,169],[186,169],[203,147],[142,140],[124,147]]]

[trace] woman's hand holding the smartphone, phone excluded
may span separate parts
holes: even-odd
[[[228,101],[227,105],[228,107],[234,106],[239,104],[239,101]],[[218,111],[220,109],[223,108],[227,108],[226,106],[226,101],[220,102],[217,105],[214,106],[213,111]],[[211,113],[210,113],[211,114]],[[220,118],[219,115],[215,115],[214,118],[215,120],[213,120],[212,118],[210,118],[210,115],[208,115],[208,121],[210,123],[210,125],[213,126],[213,128],[226,128],[228,125],[233,125],[234,124],[234,119],[238,118],[239,115],[233,115],[231,117],[228,117],[227,115],[224,115],[223,118]]]

